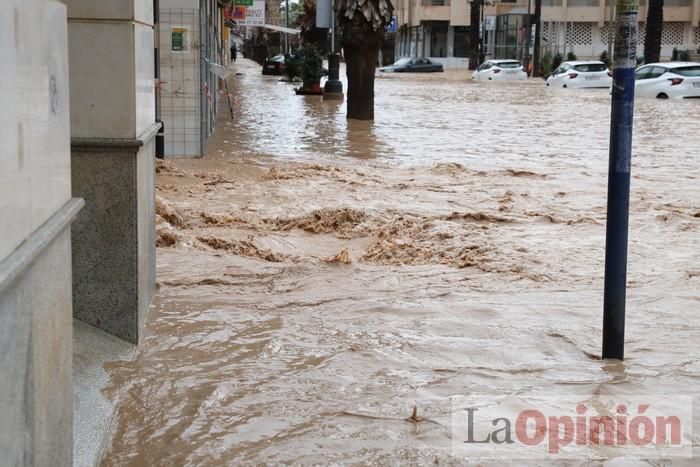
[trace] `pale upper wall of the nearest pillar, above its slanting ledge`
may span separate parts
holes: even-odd
[[[65,7],[0,1],[0,261],[71,197]]]

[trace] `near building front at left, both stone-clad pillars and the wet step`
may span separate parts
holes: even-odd
[[[0,2],[2,465],[93,466],[155,291],[153,0]]]

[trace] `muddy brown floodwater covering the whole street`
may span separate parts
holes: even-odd
[[[208,156],[158,164],[160,289],[109,365],[103,465],[459,464],[452,395],[698,400],[698,102],[636,104],[614,363],[605,91],[387,75],[376,121],[346,122],[236,66]]]

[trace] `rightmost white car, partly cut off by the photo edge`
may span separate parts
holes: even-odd
[[[658,99],[700,99],[700,63],[649,63],[635,72],[634,95]]]

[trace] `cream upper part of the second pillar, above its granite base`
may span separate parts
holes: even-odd
[[[71,77],[71,136],[138,138],[155,121],[153,0],[62,1],[70,67],[81,70]]]

